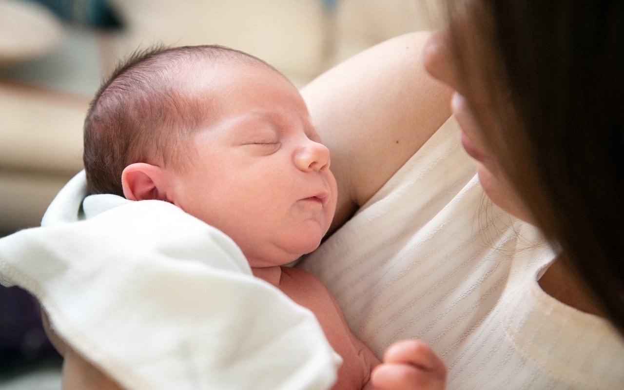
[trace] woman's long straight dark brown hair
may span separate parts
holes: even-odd
[[[464,93],[488,95],[495,112],[473,106],[490,149],[624,334],[624,2],[478,0],[455,11]]]

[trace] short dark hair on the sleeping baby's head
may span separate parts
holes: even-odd
[[[180,88],[180,67],[198,59],[266,66],[250,54],[218,45],[165,47],[137,51],[105,80],[84,122],[83,162],[89,193],[124,196],[121,175],[135,162],[165,165],[174,150],[210,112],[202,97]],[[276,71],[277,72],[277,71]],[[215,100],[215,104],[217,99]]]

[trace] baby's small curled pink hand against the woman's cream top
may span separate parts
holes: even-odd
[[[422,341],[397,341],[373,369],[371,383],[379,390],[444,389],[446,366]]]

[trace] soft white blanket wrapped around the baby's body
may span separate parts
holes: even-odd
[[[30,291],[73,348],[128,389],[327,389],[340,358],[314,315],[251,275],[238,246],[165,202],[85,195],[0,240],[0,282]]]

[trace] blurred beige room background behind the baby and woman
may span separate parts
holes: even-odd
[[[120,59],[152,44],[222,44],[298,87],[444,19],[436,0],[0,0],[0,236],[36,227],[82,169],[82,121]],[[0,286],[0,388],[60,389],[36,301]]]

